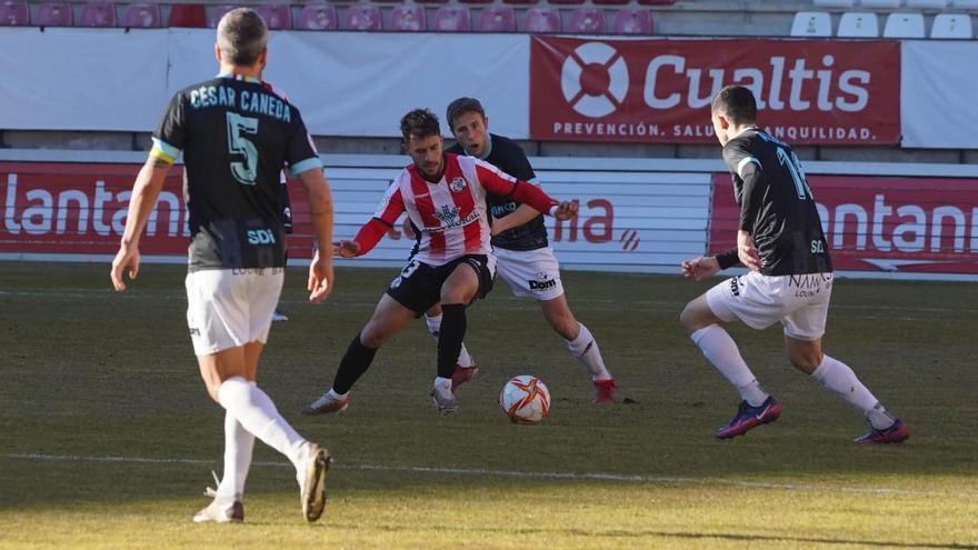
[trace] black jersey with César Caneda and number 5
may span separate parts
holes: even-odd
[[[257,79],[193,84],[173,96],[150,154],[181,152],[190,270],[283,267],[282,169],[322,167],[299,111]]]

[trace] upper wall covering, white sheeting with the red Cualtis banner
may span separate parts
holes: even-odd
[[[17,106],[0,128],[149,131],[174,90],[214,72],[212,32],[3,29],[0,47],[20,53],[0,58],[17,76],[0,82]],[[469,94],[516,139],[711,143],[709,98],[737,81],[796,144],[978,149],[978,74],[960,70],[975,41],[281,31],[271,52],[269,80],[319,136],[396,137],[408,109]]]

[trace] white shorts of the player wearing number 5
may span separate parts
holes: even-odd
[[[187,327],[193,353],[210,356],[268,341],[283,268],[208,269],[187,274]]]

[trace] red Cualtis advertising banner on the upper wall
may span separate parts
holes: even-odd
[[[710,101],[732,83],[791,143],[900,140],[899,41],[557,37],[530,46],[530,137],[712,143]]]

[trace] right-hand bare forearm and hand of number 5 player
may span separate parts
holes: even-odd
[[[312,229],[316,231],[318,247],[312,263],[309,264],[309,280],[306,289],[310,292],[309,301],[320,303],[329,298],[335,280],[332,269],[332,193],[326,176],[319,168],[300,173],[299,181],[306,189],[309,216]]]

